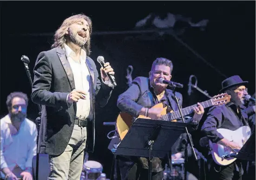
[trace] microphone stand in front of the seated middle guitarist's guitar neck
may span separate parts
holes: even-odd
[[[179,99],[177,98],[176,96],[176,91],[175,91],[175,88],[173,88],[173,92],[174,92],[174,96],[175,96],[175,99],[176,99],[176,103],[177,103],[177,106],[178,106],[178,109],[179,109],[179,113],[180,113],[180,116],[182,118],[182,121],[185,123],[185,120],[184,120],[184,116],[182,115],[182,112],[181,112],[181,109],[180,109],[180,106],[179,106]],[[187,140],[183,141],[183,143],[185,144],[185,172],[184,172],[184,180],[187,180],[187,161],[188,161],[188,143],[190,143],[190,146],[191,146],[191,149],[192,149],[192,153],[194,154],[194,157],[197,161],[197,154],[195,152],[195,149],[194,149],[194,144],[193,144],[193,141],[189,135],[189,131],[187,129],[187,127],[185,127],[186,129],[186,134],[187,134],[187,139],[189,140],[189,142]]]

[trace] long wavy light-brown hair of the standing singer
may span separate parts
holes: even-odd
[[[82,47],[86,51],[86,54],[89,55],[91,53],[91,34],[92,34],[92,20],[85,14],[76,14],[73,15],[67,19],[65,19],[62,23],[62,25],[59,27],[59,29],[54,34],[54,43],[52,45],[52,48],[60,46],[61,48],[64,47],[64,44],[66,43],[66,31],[74,23],[79,22],[79,20],[85,19],[89,25],[89,39],[85,43],[85,45]]]

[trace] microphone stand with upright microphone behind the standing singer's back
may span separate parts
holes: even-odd
[[[21,60],[22,60],[22,57],[21,57]],[[22,61],[23,62],[23,61]],[[28,67],[28,64],[23,62],[24,66],[25,66],[25,70],[26,70],[26,75],[29,79],[29,82],[30,82],[30,85],[32,87],[33,85],[33,81],[32,81],[32,78],[31,78],[31,74],[30,74],[30,71],[29,71],[29,67]],[[39,140],[39,128],[40,128],[40,124],[41,124],[41,106],[38,104],[38,109],[39,109],[39,117],[36,118],[36,123],[37,123],[37,129],[38,129],[38,133],[37,133],[37,140],[36,140],[36,143],[38,145],[38,140]],[[38,146],[37,146],[38,148]],[[38,180],[38,174],[39,174],[39,153],[38,153],[38,149],[37,149],[37,153],[36,153],[36,179],[35,180]]]

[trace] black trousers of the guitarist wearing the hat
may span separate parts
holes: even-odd
[[[236,165],[238,169],[236,168]],[[238,170],[238,171],[237,171]],[[219,166],[215,162],[210,165],[207,180],[242,180],[243,167],[240,162],[227,166]]]

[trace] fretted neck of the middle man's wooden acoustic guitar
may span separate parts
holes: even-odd
[[[210,106],[213,106],[213,103],[212,103],[211,99],[209,99],[207,101],[204,101],[203,103],[200,103],[200,104],[203,106],[203,108],[208,108]],[[192,106],[188,106],[186,108],[181,109],[182,115],[183,116],[189,115],[190,113],[193,112],[194,107],[197,107],[197,104],[194,104]],[[161,116],[159,118],[159,120],[171,121],[171,120],[174,120],[174,119],[178,119],[180,117],[181,117],[181,115],[179,113],[179,110],[177,110],[177,111],[174,111],[172,113],[167,113],[166,115]]]

